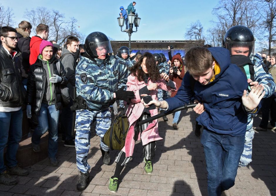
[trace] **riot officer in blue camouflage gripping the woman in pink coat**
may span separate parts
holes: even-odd
[[[90,148],[90,126],[96,121],[95,131],[100,138],[111,125],[110,104],[116,99],[125,100],[134,98],[131,91],[118,90],[118,82],[126,76],[127,69],[120,70],[119,61],[112,55],[110,41],[104,33],[90,33],[84,44],[85,53],[80,56],[76,67],[76,162],[80,170],[78,190],[84,190],[88,179],[90,165],[87,155]],[[110,148],[100,141],[103,163],[110,163]]]

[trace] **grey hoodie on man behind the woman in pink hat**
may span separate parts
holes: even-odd
[[[64,67],[64,70],[66,72],[67,78],[68,78],[68,88],[69,93],[71,93],[73,87],[75,86],[76,78],[75,78],[75,70],[77,63],[75,61],[75,55],[71,53],[66,48],[62,49],[61,53],[61,64]]]

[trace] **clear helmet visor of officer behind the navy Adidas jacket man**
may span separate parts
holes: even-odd
[[[254,54],[255,41],[252,42],[236,42],[232,40],[226,40],[225,47],[230,51],[230,55],[245,55],[250,56]]]

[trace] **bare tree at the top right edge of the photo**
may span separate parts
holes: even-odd
[[[261,26],[265,28],[265,37],[268,38],[268,55],[271,53],[271,44],[276,40],[276,1],[275,0],[260,0],[262,3],[262,11],[259,11],[262,16]]]

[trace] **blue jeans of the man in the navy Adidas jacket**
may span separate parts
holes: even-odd
[[[244,136],[217,134],[203,129],[201,143],[207,165],[209,196],[221,195],[235,184]]]

